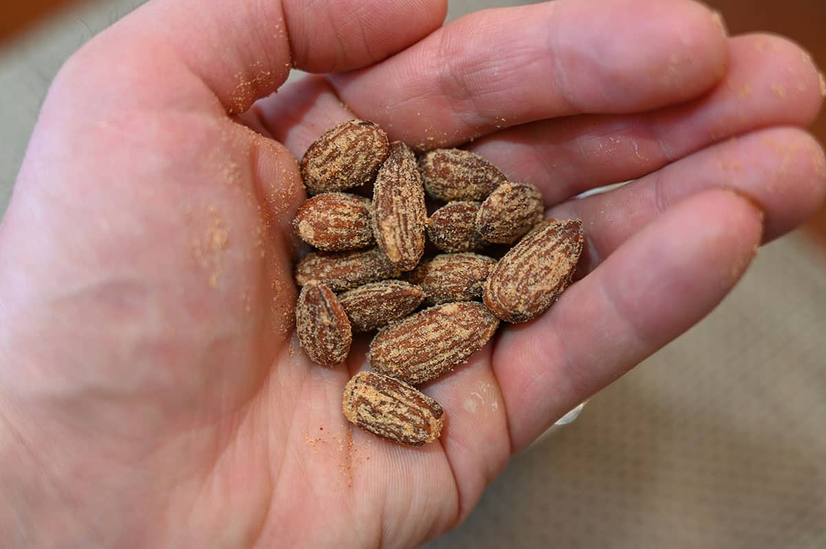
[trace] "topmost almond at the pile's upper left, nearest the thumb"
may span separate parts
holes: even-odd
[[[326,131],[301,159],[307,192],[343,191],[372,181],[387,147],[387,134],[370,121],[346,121]]]

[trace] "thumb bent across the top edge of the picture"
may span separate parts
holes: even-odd
[[[114,73],[100,71],[87,89],[134,92],[140,83],[159,92],[154,101],[214,105],[217,98],[226,111],[239,113],[274,92],[292,67],[358,69],[406,48],[441,25],[446,4],[150,2],[93,40],[71,65],[88,78],[90,68],[116,63]]]

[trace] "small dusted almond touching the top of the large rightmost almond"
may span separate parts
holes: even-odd
[[[542,221],[544,211],[538,188],[507,182],[482,202],[476,215],[476,229],[487,242],[511,244]]]

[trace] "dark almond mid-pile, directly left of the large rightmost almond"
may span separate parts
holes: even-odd
[[[425,291],[430,305],[473,301],[482,296],[482,285],[496,259],[477,253],[443,253],[422,262],[407,277]]]

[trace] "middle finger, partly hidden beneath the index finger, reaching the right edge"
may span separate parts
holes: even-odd
[[[729,40],[729,69],[705,97],[644,114],[573,116],[489,135],[468,149],[555,204],[651,173],[709,144],[769,125],[809,125],[823,102],[819,73],[777,36]]]

